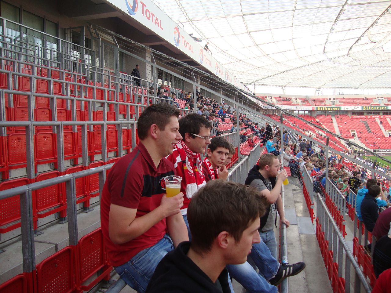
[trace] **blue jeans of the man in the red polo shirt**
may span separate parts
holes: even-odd
[[[168,234],[155,245],[141,250],[127,263],[117,266],[118,275],[139,293],[144,293],[148,283],[161,259],[174,249],[174,244]]]

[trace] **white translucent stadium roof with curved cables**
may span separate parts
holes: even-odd
[[[245,84],[391,88],[389,0],[152,1]]]

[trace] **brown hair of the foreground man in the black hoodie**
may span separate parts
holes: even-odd
[[[210,180],[193,195],[188,206],[192,249],[200,254],[210,251],[222,231],[240,241],[243,231],[265,213],[266,206],[266,198],[252,186]]]

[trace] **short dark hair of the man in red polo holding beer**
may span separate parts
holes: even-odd
[[[179,117],[181,112],[177,107],[167,103],[153,104],[145,108],[137,120],[138,138],[145,139],[148,136],[152,124],[156,124],[160,130],[164,130],[171,116]]]

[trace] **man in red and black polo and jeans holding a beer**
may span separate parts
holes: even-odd
[[[102,191],[101,225],[110,262],[138,292],[145,292],[161,258],[188,240],[180,213],[183,194],[166,197],[160,185],[151,188],[175,174],[164,157],[182,138],[178,116],[167,103],[147,107],[138,119],[140,143],[111,168]]]

